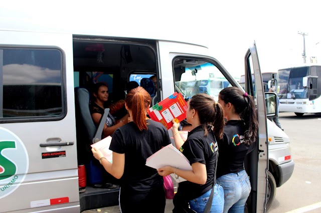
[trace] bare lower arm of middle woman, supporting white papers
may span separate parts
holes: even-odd
[[[190,182],[205,184],[207,180],[207,172],[206,172],[205,164],[200,162],[195,162],[192,164],[192,169],[193,170],[189,171],[189,170],[176,168],[176,171],[175,171],[175,167],[165,166],[162,168],[158,168],[157,171],[158,171],[158,174],[162,176],[166,176],[175,172],[176,175],[179,175]]]

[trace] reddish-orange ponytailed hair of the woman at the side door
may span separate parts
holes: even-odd
[[[126,105],[132,110],[132,121],[140,131],[147,129],[146,111],[150,101],[149,93],[141,86],[131,89],[126,96]]]

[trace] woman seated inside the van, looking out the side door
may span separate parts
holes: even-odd
[[[90,113],[95,125],[99,124],[101,116],[104,114],[104,103],[108,100],[108,87],[103,82],[95,83],[93,86],[94,100],[90,103]],[[111,111],[107,116],[106,123],[103,128],[103,137],[111,135],[116,128],[124,125],[128,121],[127,113],[119,120],[116,120]]]

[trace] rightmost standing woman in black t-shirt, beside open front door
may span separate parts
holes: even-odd
[[[224,212],[244,212],[251,191],[244,159],[258,130],[254,99],[238,87],[227,87],[221,90],[219,103],[227,122],[223,139],[218,140],[217,182],[224,188]]]

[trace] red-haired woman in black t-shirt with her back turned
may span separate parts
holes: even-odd
[[[140,86],[127,94],[125,106],[132,122],[117,128],[112,135],[112,163],[99,150],[92,149],[106,171],[120,179],[119,205],[123,213],[165,211],[163,177],[145,163],[171,139],[162,123],[146,117],[150,101],[149,93]]]

